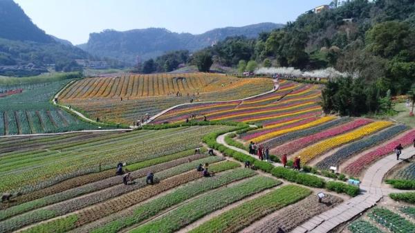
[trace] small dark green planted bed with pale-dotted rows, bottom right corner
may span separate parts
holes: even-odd
[[[380,225],[387,227],[392,232],[415,232],[415,224],[407,221],[405,218],[391,212],[389,209],[376,208],[372,209],[369,218],[373,219]]]

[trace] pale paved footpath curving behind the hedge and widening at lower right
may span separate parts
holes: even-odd
[[[225,136],[228,134],[229,133],[225,133],[219,136],[216,138],[216,142],[235,151],[250,155],[248,151],[226,144]],[[393,192],[404,192],[403,190],[382,187],[382,180],[385,174],[387,174],[387,171],[398,165],[399,162],[402,162],[403,160],[410,158],[413,155],[415,155],[415,148],[409,147],[407,149],[403,149],[400,160],[396,160],[395,153],[392,153],[389,156],[378,160],[378,162],[375,162],[374,165],[371,165],[371,167],[367,169],[365,176],[362,179],[362,183],[360,185],[360,192],[362,194],[356,196],[355,198],[351,198],[349,201],[345,201],[344,203],[334,207],[333,209],[330,209],[329,211],[314,216],[302,225],[295,227],[291,233],[330,232],[338,225],[351,220],[353,217],[364,212],[366,209],[376,205],[376,203],[380,201],[383,196],[387,196]],[[256,156],[252,157],[257,159]],[[273,165],[281,166],[279,163],[273,163]],[[328,179],[326,177],[322,178]]]

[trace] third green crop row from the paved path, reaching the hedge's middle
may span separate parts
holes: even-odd
[[[235,180],[241,180],[250,176],[254,176],[255,172],[248,169],[236,169],[234,171],[228,171],[224,174],[218,174],[210,179],[199,180],[196,183],[185,185],[174,192],[155,199],[149,203],[145,203],[140,207],[134,209],[131,216],[118,218],[116,221],[107,223],[104,227],[100,227],[94,230],[93,233],[116,233],[125,227],[140,223],[146,219],[156,216],[163,210],[182,203],[183,201],[190,199],[204,192],[208,192],[211,189],[216,189],[228,183],[232,183]]]

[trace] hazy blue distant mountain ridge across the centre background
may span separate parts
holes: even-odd
[[[104,30],[91,33],[88,43],[78,47],[91,55],[111,57],[127,64],[135,64],[137,56],[145,60],[171,50],[199,50],[226,37],[243,35],[254,38],[259,32],[269,32],[283,26],[283,24],[261,23],[243,27],[216,28],[199,35],[171,32],[165,28],[146,28],[124,32]]]

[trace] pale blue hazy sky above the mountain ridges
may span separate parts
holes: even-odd
[[[285,24],[330,0],[15,0],[50,35],[73,44],[104,29],[167,28],[200,34],[261,22]]]

